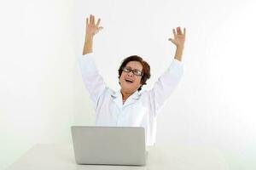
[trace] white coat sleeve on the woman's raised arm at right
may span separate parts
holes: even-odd
[[[177,59],[172,60],[172,64],[167,71],[155,82],[154,88],[149,91],[151,105],[154,106],[154,113],[158,114],[166,99],[172,94],[177,83],[183,75],[183,64]]]

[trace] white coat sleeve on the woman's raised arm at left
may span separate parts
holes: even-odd
[[[79,56],[79,66],[85,87],[88,89],[90,99],[96,109],[100,96],[106,89],[102,76],[98,73],[93,54]]]

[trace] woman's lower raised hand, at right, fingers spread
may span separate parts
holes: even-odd
[[[176,47],[183,47],[186,39],[186,28],[183,28],[183,32],[182,32],[181,28],[177,27],[176,31],[175,29],[172,29],[172,32],[173,32],[174,38],[173,39],[169,38],[168,40],[174,43]]]

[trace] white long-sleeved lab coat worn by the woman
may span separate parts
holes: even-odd
[[[94,54],[81,55],[79,65],[96,110],[96,126],[144,127],[146,144],[154,145],[156,117],[183,75],[182,63],[173,59],[154,88],[135,92],[123,105],[120,90],[113,91],[106,86],[93,58]]]

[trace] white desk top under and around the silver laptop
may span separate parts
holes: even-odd
[[[77,165],[72,145],[36,144],[7,170],[227,170],[219,150],[192,146],[148,148],[145,167]]]

